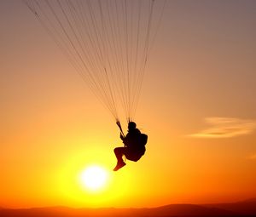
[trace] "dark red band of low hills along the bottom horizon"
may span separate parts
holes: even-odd
[[[237,203],[170,204],[157,208],[18,208],[0,209],[1,217],[213,217],[256,216],[256,199]]]

